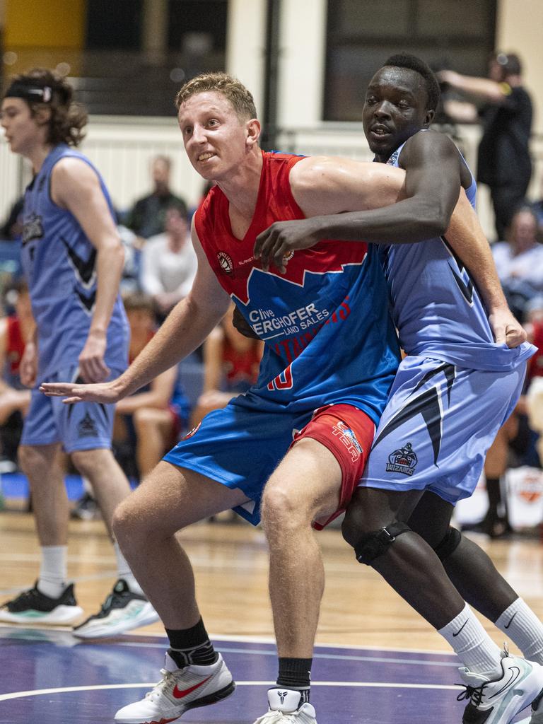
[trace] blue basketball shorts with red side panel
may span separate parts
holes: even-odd
[[[374,438],[374,422],[353,405],[329,405],[292,414],[279,405],[277,412],[270,412],[244,406],[243,397],[236,400],[206,415],[164,460],[242,490],[247,502],[234,510],[256,525],[269,476],[292,445],[311,437],[332,452],[342,470],[340,510],[314,523],[318,529],[327,525],[348,504],[360,480]],[[311,480],[306,484],[311,495]]]

